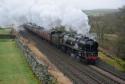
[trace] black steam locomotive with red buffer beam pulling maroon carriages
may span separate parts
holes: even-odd
[[[97,62],[98,43],[89,37],[58,29],[46,30],[32,23],[24,24],[23,27],[80,61],[89,64]]]

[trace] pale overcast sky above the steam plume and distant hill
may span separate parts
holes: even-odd
[[[81,9],[117,9],[125,5],[125,0],[41,0],[44,3],[55,3],[74,6]]]

